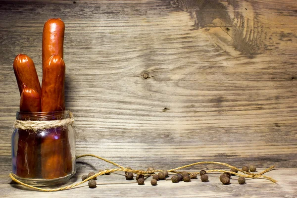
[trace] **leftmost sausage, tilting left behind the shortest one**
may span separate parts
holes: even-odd
[[[13,61],[13,70],[19,87],[20,95],[23,83],[41,95],[41,87],[32,59],[25,54],[18,54]]]

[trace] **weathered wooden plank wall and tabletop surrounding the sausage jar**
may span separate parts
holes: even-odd
[[[297,195],[296,0],[0,1],[0,195],[32,196],[8,177],[20,99],[12,63],[29,55],[42,81],[43,25],[54,17],[66,27],[66,108],[75,116],[77,155],[136,169],[204,160],[276,165],[269,174],[280,181],[226,187],[214,175],[204,187],[167,181],[154,188],[150,179],[139,187],[113,174],[97,190],[60,197]],[[78,161],[72,182],[113,167]],[[191,169],[206,167],[224,168]]]

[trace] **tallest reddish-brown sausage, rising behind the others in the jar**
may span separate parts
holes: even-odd
[[[49,19],[44,26],[42,37],[42,66],[53,54],[63,58],[64,22],[60,19]]]

